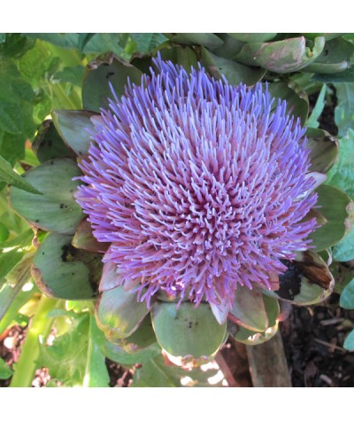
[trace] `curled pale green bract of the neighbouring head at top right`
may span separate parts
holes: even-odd
[[[262,66],[277,73],[296,72],[319,57],[325,38],[315,38],[311,48],[304,36],[273,43],[246,43],[235,59],[249,66]]]

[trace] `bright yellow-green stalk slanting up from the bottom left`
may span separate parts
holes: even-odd
[[[31,387],[39,355],[39,341],[45,340],[50,332],[53,318],[47,315],[57,302],[58,300],[52,300],[44,295],[39,300],[35,316],[27,330],[27,338],[22,346],[10,387]]]

